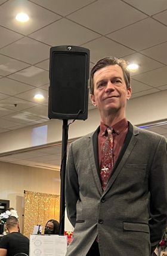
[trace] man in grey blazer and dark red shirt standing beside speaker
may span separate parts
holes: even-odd
[[[166,139],[126,120],[123,59],[98,61],[90,88],[101,124],[69,149],[66,207],[75,230],[66,255],[149,256],[166,226]]]

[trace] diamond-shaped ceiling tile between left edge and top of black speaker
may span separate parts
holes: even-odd
[[[0,50],[0,53],[33,65],[49,57],[50,47],[31,38],[24,37],[4,47]]]

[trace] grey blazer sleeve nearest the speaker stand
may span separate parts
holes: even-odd
[[[75,227],[76,223],[76,203],[79,198],[79,183],[78,174],[76,172],[74,158],[73,158],[73,143],[69,148],[69,155],[66,167],[66,182],[65,182],[65,198],[66,210],[69,221]]]

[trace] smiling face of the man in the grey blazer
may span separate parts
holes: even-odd
[[[131,97],[131,88],[126,88],[122,68],[110,65],[94,73],[92,104],[101,115],[117,113],[125,116],[126,101]]]

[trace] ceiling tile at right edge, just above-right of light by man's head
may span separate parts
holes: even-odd
[[[143,50],[141,53],[164,64],[167,64],[167,42]]]

